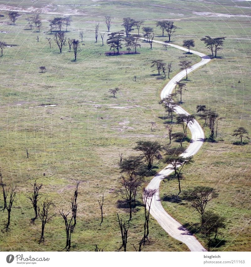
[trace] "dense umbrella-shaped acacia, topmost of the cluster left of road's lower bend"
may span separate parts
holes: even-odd
[[[158,142],[151,141],[138,141],[134,148],[136,151],[141,151],[145,157],[148,170],[151,170],[153,159],[159,154],[159,150],[162,150],[161,145]]]

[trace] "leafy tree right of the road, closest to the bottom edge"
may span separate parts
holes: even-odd
[[[216,239],[217,233],[220,228],[225,228],[225,219],[213,211],[205,211],[204,223],[202,230],[207,237],[207,250],[210,251],[211,246],[211,234],[214,233],[214,239]]]

